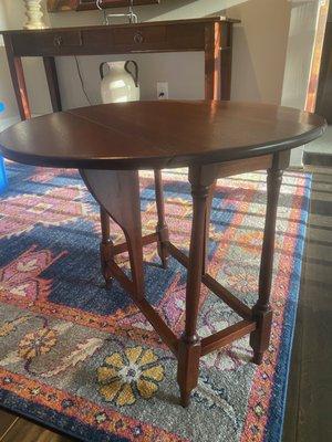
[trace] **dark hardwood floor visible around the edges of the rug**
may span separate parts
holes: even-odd
[[[283,442],[332,441],[332,169],[313,172]],[[69,441],[0,411],[0,442]]]

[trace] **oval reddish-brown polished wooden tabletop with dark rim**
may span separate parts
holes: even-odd
[[[301,146],[322,117],[267,104],[135,102],[44,115],[0,134],[4,157],[30,165],[149,169],[221,162]]]

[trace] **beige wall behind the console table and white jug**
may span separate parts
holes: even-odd
[[[2,1],[9,18],[8,27],[21,28],[24,21],[22,2]],[[162,0],[160,6],[137,8],[137,12],[143,21],[197,18],[225,12],[228,17],[241,19],[241,24],[235,27],[234,36],[232,99],[280,103],[290,17],[287,0]],[[102,13],[56,13],[46,19],[52,27],[100,24]],[[102,61],[124,59],[126,57],[123,55],[79,57],[85,88],[92,103],[100,102],[98,64]],[[138,54],[134,59],[141,67],[143,99],[156,97],[157,81],[168,81],[170,98],[204,97],[201,53]],[[3,50],[0,50],[0,63],[1,66],[6,65]],[[74,59],[59,57],[56,64],[64,108],[86,105]],[[25,60],[24,69],[33,113],[50,112],[41,62],[34,59]],[[1,69],[0,75],[6,86],[3,88],[8,91],[7,116],[14,115],[17,107],[6,67]]]

